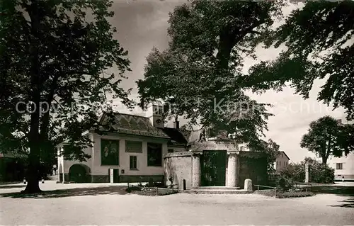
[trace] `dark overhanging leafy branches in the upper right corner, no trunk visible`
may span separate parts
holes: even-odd
[[[265,44],[285,49],[278,59],[252,67],[240,83],[253,91],[290,84],[308,98],[315,79],[324,79],[318,100],[345,108],[347,119],[354,119],[354,1],[307,1]]]

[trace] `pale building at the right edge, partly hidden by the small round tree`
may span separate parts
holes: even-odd
[[[337,120],[338,123],[343,123],[341,119]],[[345,124],[353,124],[346,121]],[[354,153],[349,153],[348,156],[340,158],[332,157],[329,159],[329,166],[334,169],[335,181],[354,181]]]

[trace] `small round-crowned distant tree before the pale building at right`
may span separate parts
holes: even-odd
[[[321,157],[326,164],[329,157],[341,157],[354,150],[354,126],[343,125],[330,116],[313,121],[302,137],[301,147]]]

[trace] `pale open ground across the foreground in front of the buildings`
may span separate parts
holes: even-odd
[[[318,194],[275,199],[251,195],[149,197],[120,194],[108,184],[41,184],[68,189],[18,198],[22,188],[1,187],[0,225],[353,225],[354,196]],[[19,186],[19,185],[17,185]],[[83,188],[90,186],[89,188]],[[93,188],[100,186],[100,188]],[[84,192],[86,191],[86,192]]]

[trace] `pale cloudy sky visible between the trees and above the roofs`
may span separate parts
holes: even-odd
[[[114,1],[112,10],[115,11],[115,16],[110,18],[110,22],[118,30],[115,38],[128,51],[131,61],[130,69],[132,69],[132,72],[125,74],[128,79],[123,79],[121,85],[126,89],[132,88],[132,97],[137,96],[135,81],[144,77],[144,64],[149,52],[153,47],[159,50],[166,49],[169,40],[167,35],[169,12],[173,11],[175,6],[181,5],[181,2],[183,1]],[[286,10],[290,12],[291,9]],[[279,52],[280,50],[259,48],[257,53],[260,60],[272,60]],[[247,60],[245,67],[250,67],[254,63],[253,60]],[[304,157],[315,157],[313,153],[302,149],[299,145],[302,135],[307,132],[309,123],[313,120],[324,115],[331,115],[345,121],[346,115],[342,108],[332,111],[331,107],[316,101],[322,84],[324,81],[315,81],[309,98],[306,100],[294,94],[294,89],[290,87],[285,87],[278,93],[274,91],[267,91],[261,95],[249,93],[251,98],[260,103],[273,104],[269,112],[275,116],[268,120],[268,132],[265,132],[265,139],[271,138],[277,142],[280,150],[290,157],[290,162],[302,161]],[[115,110],[121,113],[143,114],[138,108],[129,112],[124,106],[117,106]],[[183,124],[182,120],[181,124]],[[171,122],[167,126],[172,126]]]

